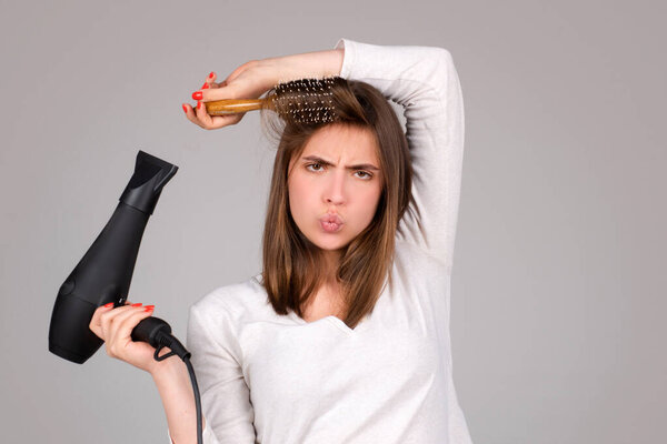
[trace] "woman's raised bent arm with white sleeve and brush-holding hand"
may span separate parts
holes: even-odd
[[[418,245],[451,272],[464,158],[464,100],[449,51],[435,47],[376,46],[340,39],[336,49],[253,60],[225,81],[207,80],[202,102],[257,98],[280,81],[339,74],[372,84],[405,109],[412,154],[414,213],[406,212],[399,239]],[[215,79],[215,78],[213,78]],[[210,117],[183,104],[205,129],[238,123],[241,115]]]

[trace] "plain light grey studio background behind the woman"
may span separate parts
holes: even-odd
[[[461,80],[451,331],[474,441],[664,442],[665,9],[2,1],[1,441],[168,442],[148,374],[48,352],[58,287],[146,150],[180,170],[130,300],[185,340],[191,303],[260,270],[273,151],[258,115],[207,132],[181,102],[211,70],[347,37],[447,48]]]

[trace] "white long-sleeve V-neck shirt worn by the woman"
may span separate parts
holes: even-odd
[[[190,309],[187,347],[207,444],[469,444],[454,387],[451,261],[464,102],[450,53],[341,39],[340,75],[405,108],[415,214],[397,233],[394,285],[350,330],[336,316],[278,315],[261,274]]]

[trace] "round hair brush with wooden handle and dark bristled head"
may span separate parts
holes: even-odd
[[[285,120],[301,123],[332,122],[336,115],[331,90],[339,81],[342,81],[339,77],[291,80],[277,84],[262,99],[225,99],[206,102],[206,111],[210,115],[225,115],[268,109]]]

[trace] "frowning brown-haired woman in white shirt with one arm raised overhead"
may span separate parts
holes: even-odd
[[[190,309],[205,442],[469,443],[449,339],[464,149],[449,52],[341,39],[248,62],[220,83],[211,73],[183,110],[223,128],[242,115],[210,117],[202,102],[334,75],[348,80],[332,90],[340,119],[280,129],[262,273]],[[407,138],[387,99],[405,108]],[[151,312],[100,307],[91,330],[109,355],[152,375],[172,441],[191,443],[185,365],[130,340]]]

